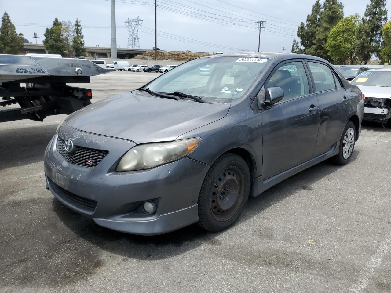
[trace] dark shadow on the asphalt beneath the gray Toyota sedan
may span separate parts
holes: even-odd
[[[355,161],[358,155],[359,152],[355,151],[351,162]],[[343,167],[325,161],[273,186],[258,197],[250,197],[244,213],[235,225],[245,223],[271,205],[285,200],[300,190],[312,190],[310,187],[312,184],[339,168]],[[207,232],[194,224],[163,235],[137,236],[99,227],[93,220],[71,211],[56,199],[53,199],[52,208],[61,222],[77,236],[103,250],[127,258],[165,259],[192,250],[204,243],[221,245],[218,238],[221,233],[224,233]]]

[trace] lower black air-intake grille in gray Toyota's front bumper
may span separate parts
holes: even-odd
[[[65,202],[68,202],[70,205],[77,207],[78,209],[84,211],[86,214],[93,214],[98,202],[96,200],[91,200],[85,197],[79,197],[68,190],[58,186],[54,183],[50,178],[48,178],[48,183],[50,187],[53,189],[54,193],[63,199]]]

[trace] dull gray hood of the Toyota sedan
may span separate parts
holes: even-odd
[[[202,104],[128,92],[88,105],[70,114],[65,123],[81,131],[140,144],[173,141],[223,118],[229,109],[230,104]]]

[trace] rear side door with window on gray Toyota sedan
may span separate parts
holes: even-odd
[[[351,96],[326,63],[307,60],[312,86],[319,104],[319,132],[314,157],[329,151],[341,138],[351,110]]]

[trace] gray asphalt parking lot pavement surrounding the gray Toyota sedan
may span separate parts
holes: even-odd
[[[92,78],[93,101],[158,73]],[[0,292],[391,292],[391,130],[365,123],[346,166],[323,162],[249,198],[220,233],[97,226],[45,189],[64,115],[0,123]]]

